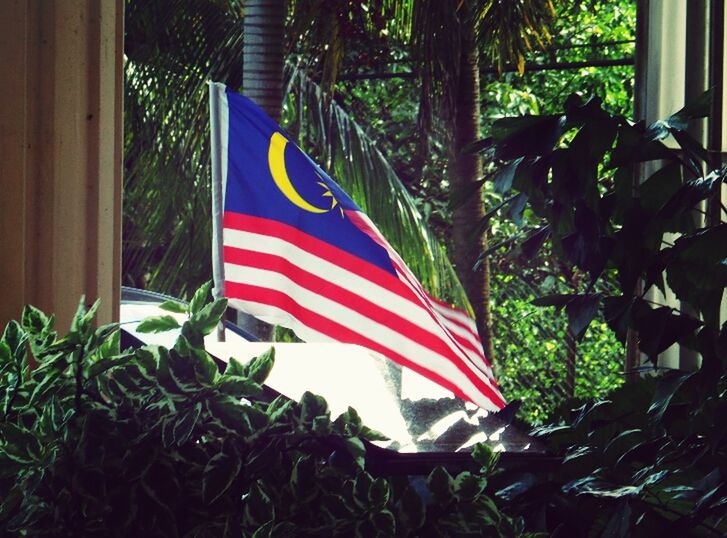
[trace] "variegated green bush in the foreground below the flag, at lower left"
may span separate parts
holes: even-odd
[[[70,332],[27,307],[0,341],[0,533],[3,536],[519,536],[522,522],[485,493],[479,473],[426,480],[366,471],[353,409],[274,396],[270,352],[223,373],[204,350],[225,301],[186,312],[175,346],[120,350],[83,301]],[[172,316],[148,331],[177,327]]]

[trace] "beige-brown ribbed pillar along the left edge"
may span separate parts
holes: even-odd
[[[0,328],[118,319],[123,0],[0,2]]]

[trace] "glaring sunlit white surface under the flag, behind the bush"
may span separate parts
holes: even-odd
[[[136,331],[141,320],[159,315],[172,316],[180,325],[186,319],[183,314],[160,310],[155,303],[126,301],[121,305],[124,329],[144,343],[172,347],[178,330],[158,334]],[[332,418],[353,407],[364,424],[391,439],[377,443],[381,446],[400,452],[454,452],[488,441],[497,443],[496,450],[534,449],[530,438],[501,426],[486,411],[465,404],[416,372],[392,366],[362,347],[249,342],[229,329],[225,330],[224,342],[217,340],[216,333],[205,338],[207,351],[225,362],[231,357],[247,362],[271,346],[275,348],[275,365],[267,386],[295,400],[305,391],[323,396]]]

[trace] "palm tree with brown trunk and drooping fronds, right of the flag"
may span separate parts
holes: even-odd
[[[458,202],[461,193],[476,192],[482,177],[481,157],[464,151],[481,138],[480,55],[499,69],[506,62],[516,63],[522,72],[531,39],[540,44],[548,39],[554,10],[550,0],[417,0],[413,7],[411,42],[422,84],[431,88],[422,94],[422,105],[430,110],[429,100],[437,99],[451,133],[452,261],[474,309],[485,354],[494,361],[489,260],[477,264],[487,250],[487,235],[473,238],[473,229],[485,217],[485,204],[475,195]]]

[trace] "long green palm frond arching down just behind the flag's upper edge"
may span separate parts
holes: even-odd
[[[396,172],[364,130],[303,70],[288,68],[285,118],[315,156],[376,223],[432,294],[470,310],[444,247]]]

